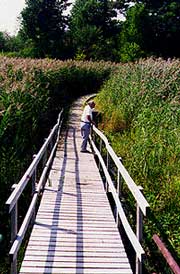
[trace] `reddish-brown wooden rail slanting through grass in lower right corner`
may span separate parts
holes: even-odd
[[[172,257],[171,253],[168,251],[166,248],[165,244],[161,241],[159,236],[157,234],[153,235],[153,240],[156,243],[157,247],[159,248],[160,252],[164,256],[166,262],[170,266],[171,270],[173,271],[174,274],[180,274],[180,267]]]

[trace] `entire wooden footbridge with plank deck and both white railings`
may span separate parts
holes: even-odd
[[[69,125],[64,133],[61,133],[60,113],[57,124],[23,178],[13,186],[6,203],[11,213],[11,274],[18,273],[17,254],[30,223],[33,223],[33,228],[20,274],[142,273],[142,217],[149,205],[140,187],[135,185],[108,140],[97,128],[94,127],[90,137],[90,153],[80,153],[81,112],[82,100],[79,100],[71,109]],[[107,153],[105,159],[101,155],[104,149]],[[115,166],[116,182],[109,171],[111,162]],[[41,175],[38,176],[39,173]],[[29,182],[32,183],[32,201],[18,228],[17,204]],[[126,183],[137,206],[136,234],[121,205],[122,182]],[[107,192],[114,200],[114,214]],[[36,214],[36,204],[41,195]],[[120,225],[135,250],[135,270],[129,263],[119,233]]]

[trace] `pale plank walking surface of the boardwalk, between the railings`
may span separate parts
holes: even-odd
[[[79,152],[81,112],[78,101],[53,161],[21,274],[132,274],[94,156]]]

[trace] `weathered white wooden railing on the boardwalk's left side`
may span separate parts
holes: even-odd
[[[51,166],[54,153],[56,151],[61,125],[62,125],[62,112],[59,113],[56,125],[51,130],[48,138],[45,140],[43,146],[39,150],[37,155],[34,155],[34,159],[25,172],[22,179],[18,184],[13,185],[13,192],[6,202],[8,211],[11,214],[11,249],[9,252],[11,259],[11,274],[17,273],[17,254],[24,236],[27,232],[30,222],[34,221],[35,218],[35,206],[38,201],[40,192],[43,189],[44,183],[47,178],[48,170]],[[42,173],[40,179],[37,179],[38,165],[42,161]],[[22,225],[18,231],[18,200],[23,192],[23,190],[28,185],[29,181],[32,182],[32,200],[26,216],[22,222]]]

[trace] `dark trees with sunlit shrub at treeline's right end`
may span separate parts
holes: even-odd
[[[120,60],[135,60],[144,56],[179,57],[180,2],[179,0],[149,1],[120,0],[117,8],[126,20],[120,33]],[[137,56],[128,56],[131,44],[137,44]],[[132,48],[132,46],[131,46]],[[136,53],[136,50],[135,50]],[[135,54],[136,55],[136,54]]]

